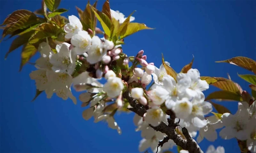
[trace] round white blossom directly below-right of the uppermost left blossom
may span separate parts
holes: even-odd
[[[71,38],[71,44],[74,45],[76,54],[81,55],[88,51],[91,46],[92,38],[87,31],[81,30]],[[87,56],[87,54],[86,54]]]

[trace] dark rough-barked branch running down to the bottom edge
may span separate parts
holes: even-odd
[[[148,108],[145,108],[145,106],[141,105],[140,103],[138,103],[138,101],[134,98],[132,98],[132,96],[130,95],[129,91],[125,91],[123,93],[123,97],[126,98],[128,100],[128,102],[130,103],[130,105],[133,108],[129,108],[130,111],[140,115],[141,117],[143,117],[144,113],[147,112]],[[191,136],[188,133],[187,128],[182,128],[182,133],[183,135],[186,137],[186,139],[184,139],[181,135],[179,135],[175,128],[178,126],[179,124],[177,122],[175,122],[175,118],[173,118],[172,116],[170,117],[170,119],[168,119],[168,125],[166,125],[164,122],[162,122],[159,126],[157,127],[153,127],[156,131],[160,131],[164,134],[166,134],[168,136],[168,138],[172,139],[176,145],[180,146],[182,149],[184,150],[188,150],[191,153],[204,153],[199,145],[196,143],[196,141],[191,138]]]

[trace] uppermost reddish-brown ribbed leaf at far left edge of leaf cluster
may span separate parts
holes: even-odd
[[[14,24],[18,22],[21,18],[24,18],[25,16],[33,15],[34,13],[28,10],[17,10],[12,12],[11,15],[9,15],[7,18],[5,18],[4,22],[1,24]]]

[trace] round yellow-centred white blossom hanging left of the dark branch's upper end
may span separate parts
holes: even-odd
[[[107,92],[108,96],[111,98],[115,98],[120,94],[120,92],[123,90],[124,84],[122,82],[122,79],[119,77],[110,77],[108,78],[108,81],[103,86],[103,91]]]

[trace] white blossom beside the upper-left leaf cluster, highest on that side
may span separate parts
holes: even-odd
[[[66,32],[65,38],[70,39],[74,34],[83,29],[83,25],[79,18],[74,15],[68,16],[69,23],[64,25],[64,31]]]

